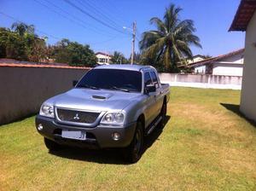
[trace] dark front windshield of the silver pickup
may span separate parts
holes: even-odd
[[[142,91],[142,73],[118,69],[94,69],[84,75],[76,88]]]

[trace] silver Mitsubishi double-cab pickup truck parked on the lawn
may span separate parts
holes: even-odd
[[[44,101],[36,128],[49,150],[124,148],[125,159],[134,163],[144,137],[166,117],[169,91],[154,67],[95,67],[72,90]]]

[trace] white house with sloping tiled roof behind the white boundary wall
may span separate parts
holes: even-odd
[[[244,49],[189,64],[195,73],[242,76]]]

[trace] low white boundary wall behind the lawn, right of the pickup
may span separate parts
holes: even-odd
[[[159,73],[161,83],[193,88],[241,90],[241,77],[205,74]]]

